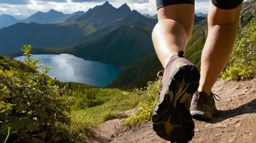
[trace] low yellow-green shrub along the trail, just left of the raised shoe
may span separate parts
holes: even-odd
[[[135,114],[125,119],[125,125],[136,126],[151,120],[154,108],[157,105],[157,90],[161,84],[162,80],[160,79],[155,82],[149,82],[146,90],[137,90],[142,95],[141,98],[143,100],[139,103]]]

